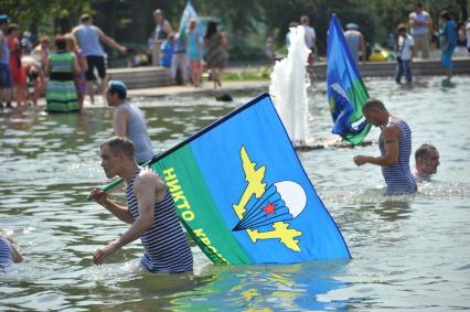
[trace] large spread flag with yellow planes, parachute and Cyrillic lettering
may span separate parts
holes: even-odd
[[[153,162],[188,233],[216,263],[351,257],[268,94]]]

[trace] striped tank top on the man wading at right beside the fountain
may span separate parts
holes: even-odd
[[[399,119],[389,117],[388,123],[398,126],[398,159],[394,165],[383,165],[382,174],[387,184],[385,194],[413,194],[416,192],[416,182],[409,169],[409,155],[412,154],[412,130],[408,125]],[[378,141],[381,154],[385,154],[385,146],[382,136]]]

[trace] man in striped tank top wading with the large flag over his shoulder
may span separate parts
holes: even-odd
[[[107,177],[126,182],[128,206],[109,201],[107,193],[92,190],[92,197],[120,220],[130,224],[121,236],[96,250],[93,261],[103,261],[122,246],[140,238],[145,252],[141,266],[150,272],[181,273],[193,270],[193,256],[178,218],[169,189],[150,169],[140,168],[128,138],[113,137],[100,146],[102,166]]]

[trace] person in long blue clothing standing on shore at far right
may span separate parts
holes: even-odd
[[[457,28],[448,11],[439,15],[440,63],[446,69],[447,78],[452,77],[452,54],[457,46]]]

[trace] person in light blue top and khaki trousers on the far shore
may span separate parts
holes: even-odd
[[[423,3],[417,2],[414,12],[409,14],[412,36],[416,44],[416,52],[421,52],[423,58],[429,58],[429,29],[432,20],[428,12],[423,9]]]

